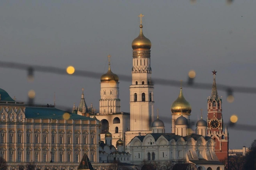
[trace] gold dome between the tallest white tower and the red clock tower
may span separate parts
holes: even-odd
[[[182,94],[182,87],[180,88],[180,95],[176,101],[172,103],[171,106],[171,112],[172,114],[190,114],[191,113],[191,105],[189,104],[188,101],[184,98]]]

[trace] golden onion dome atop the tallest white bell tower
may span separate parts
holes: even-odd
[[[132,41],[132,49],[151,49],[151,41],[146,38],[142,33],[142,24],[140,24],[140,34]]]

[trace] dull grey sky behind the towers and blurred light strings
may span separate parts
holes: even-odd
[[[196,71],[196,83],[216,82],[228,86],[256,85],[256,1],[193,0],[193,1],[69,1],[27,0],[0,1],[0,62],[17,62],[65,69],[107,72],[107,56],[117,75],[131,76],[131,43],[139,35],[142,13],[143,33],[151,40],[152,79],[188,79]],[[87,105],[99,108],[100,77],[88,78],[34,73],[34,82],[27,80],[27,71],[0,68],[0,88],[16,101],[28,100],[28,91],[36,92],[35,102],[56,107],[79,104],[84,88]],[[128,81],[119,81],[121,111],[130,112]],[[171,132],[171,104],[179,87],[155,84],[154,109]],[[235,100],[222,96],[222,116],[228,124],[231,115],[239,124],[255,125],[255,97],[252,93],[234,92]],[[192,106],[190,120],[197,121],[203,109],[207,116],[209,89],[183,88],[183,95]],[[156,114],[155,114],[156,115]],[[196,127],[192,127],[196,128]],[[249,147],[256,139],[256,130],[228,127],[229,147]]]

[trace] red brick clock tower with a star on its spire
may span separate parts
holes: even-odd
[[[223,119],[222,119],[222,99],[218,95],[217,85],[215,76],[217,71],[212,71],[213,73],[213,84],[212,84],[212,94],[208,97],[207,101],[207,131],[208,136],[215,141],[215,153],[219,160],[228,157],[228,129],[225,127],[223,129]]]

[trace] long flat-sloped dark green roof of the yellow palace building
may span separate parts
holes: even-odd
[[[95,120],[93,118],[73,114],[56,108],[26,107],[25,109],[26,118],[63,120],[64,113],[70,114],[70,120]]]

